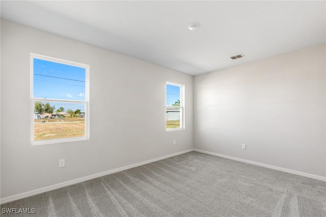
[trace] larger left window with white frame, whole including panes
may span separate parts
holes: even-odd
[[[31,53],[31,144],[89,139],[89,66]]]

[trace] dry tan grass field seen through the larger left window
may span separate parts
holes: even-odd
[[[45,122],[42,122],[45,120]],[[35,119],[34,140],[62,139],[85,136],[85,118]]]

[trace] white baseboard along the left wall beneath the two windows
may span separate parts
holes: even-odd
[[[117,168],[117,169],[108,170],[108,171],[105,171],[105,172],[101,172],[101,173],[97,173],[97,174],[93,174],[93,175],[73,179],[73,180],[70,180],[70,181],[65,181],[65,182],[58,183],[58,184],[53,184],[53,185],[50,185],[48,187],[44,187],[44,188],[41,188],[41,189],[36,189],[36,190],[33,190],[33,191],[29,191],[29,192],[9,196],[9,197],[6,197],[6,198],[2,198],[0,200],[0,204],[4,204],[4,203],[11,202],[11,201],[19,200],[19,199],[22,199],[22,198],[30,197],[30,196],[33,196],[33,195],[38,195],[38,194],[41,194],[41,193],[44,193],[44,192],[60,189],[60,188],[66,187],[68,185],[77,184],[77,183],[80,183],[80,182],[83,182],[83,181],[87,181],[87,180],[90,180],[90,179],[93,179],[93,178],[101,177],[101,176],[112,174],[112,173],[117,173],[117,172],[120,172],[120,171],[123,171],[123,170],[131,169],[133,167],[142,166],[144,164],[149,164],[149,163],[159,161],[159,160],[163,160],[163,159],[166,159],[166,158],[171,158],[173,156],[177,156],[179,154],[183,154],[183,153],[193,151],[193,150],[194,150],[194,148],[191,148],[191,149],[188,149],[188,150],[185,150],[185,151],[180,151],[180,152],[177,152],[177,153],[168,154],[166,156],[162,156],[162,157],[159,157],[159,158],[154,158],[154,159],[151,159],[151,160],[148,160],[148,161],[143,161],[143,162],[140,162],[140,163],[131,164],[131,165],[128,165],[128,166]]]

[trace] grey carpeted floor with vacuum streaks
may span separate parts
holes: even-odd
[[[1,216],[326,216],[326,182],[192,151],[1,208],[36,211]]]

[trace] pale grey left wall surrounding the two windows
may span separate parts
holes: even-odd
[[[30,146],[31,52],[90,65],[90,140]],[[193,148],[190,75],[6,20],[1,72],[1,198]],[[167,81],[185,85],[185,130],[166,132]]]

